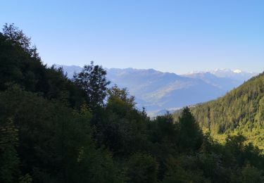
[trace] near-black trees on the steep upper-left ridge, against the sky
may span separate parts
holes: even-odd
[[[47,99],[66,99],[70,106],[77,107],[85,101],[82,89],[70,82],[61,68],[42,64],[30,38],[14,25],[5,25],[0,32],[0,78],[0,91],[19,84]]]

